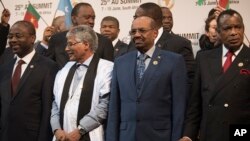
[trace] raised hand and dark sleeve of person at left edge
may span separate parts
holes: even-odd
[[[4,9],[2,12],[1,23],[0,23],[0,57],[3,54],[7,44],[7,35],[10,29],[10,25],[8,24],[9,19],[10,19],[10,12],[8,9]]]

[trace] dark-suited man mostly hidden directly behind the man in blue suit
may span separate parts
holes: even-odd
[[[167,51],[181,54],[184,57],[187,73],[188,73],[188,84],[191,85],[194,77],[194,56],[191,42],[180,36],[170,34],[169,32],[163,31],[162,27],[162,10],[161,7],[155,3],[144,3],[137,8],[134,18],[140,16],[148,16],[155,20],[158,29],[158,36],[155,39],[156,46]],[[129,50],[134,50],[133,43],[129,44]]]

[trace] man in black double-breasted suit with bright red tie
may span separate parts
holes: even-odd
[[[231,125],[250,124],[250,49],[244,23],[230,9],[217,18],[222,46],[197,55],[197,71],[181,141],[229,141]],[[198,135],[199,134],[199,135]]]

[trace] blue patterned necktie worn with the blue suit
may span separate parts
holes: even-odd
[[[137,78],[138,78],[138,82],[141,82],[141,79],[143,77],[143,74],[145,72],[145,60],[147,59],[147,55],[146,54],[140,54],[138,56],[138,60],[137,60]]]

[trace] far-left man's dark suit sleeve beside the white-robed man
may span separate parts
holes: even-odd
[[[50,114],[53,100],[53,84],[58,67],[55,63],[49,66],[49,70],[45,75],[42,89],[42,117],[40,123],[40,133],[38,141],[46,141],[52,139],[50,126]]]

